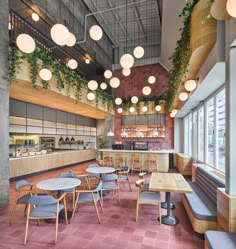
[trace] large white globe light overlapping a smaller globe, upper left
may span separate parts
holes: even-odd
[[[57,23],[52,26],[50,31],[52,40],[59,46],[66,45],[69,38],[69,30],[63,24]]]

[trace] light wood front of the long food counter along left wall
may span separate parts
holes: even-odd
[[[96,150],[62,151],[46,155],[10,158],[10,178],[93,160]]]

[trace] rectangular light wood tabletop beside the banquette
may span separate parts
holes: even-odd
[[[188,182],[178,173],[152,173],[150,191],[192,193]]]

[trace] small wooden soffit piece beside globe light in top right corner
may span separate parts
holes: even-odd
[[[211,5],[211,15],[217,20],[229,20],[231,16],[226,10],[227,0],[215,0]]]

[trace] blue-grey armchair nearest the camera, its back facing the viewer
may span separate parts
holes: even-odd
[[[57,242],[58,234],[58,220],[59,212],[64,208],[65,221],[67,222],[67,210],[66,210],[66,193],[62,194],[60,198],[55,199],[51,195],[33,195],[28,200],[27,216],[26,216],[26,228],[25,228],[25,240],[26,244],[29,228],[29,220],[37,220],[39,225],[40,219],[55,219],[56,220],[56,235],[55,244]],[[60,201],[63,200],[62,204]]]

